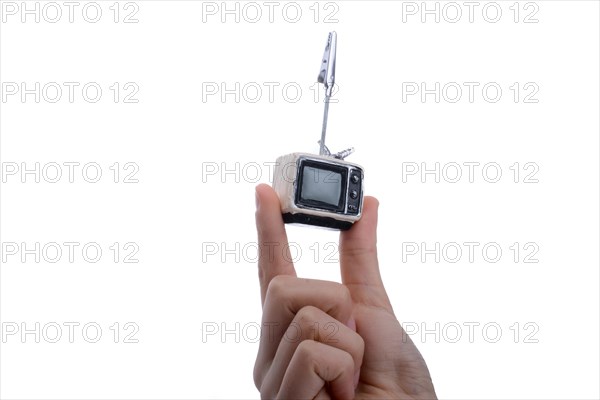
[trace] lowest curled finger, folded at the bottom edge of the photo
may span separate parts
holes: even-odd
[[[328,384],[335,399],[354,399],[354,362],[343,350],[312,340],[296,349],[277,398],[313,399]]]

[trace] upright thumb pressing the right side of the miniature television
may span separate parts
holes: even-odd
[[[360,220],[340,234],[340,269],[354,301],[387,306],[377,260],[378,208],[376,198],[365,197]]]

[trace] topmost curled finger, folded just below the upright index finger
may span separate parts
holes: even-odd
[[[263,306],[261,339],[254,366],[254,380],[258,388],[288,326],[306,306],[316,307],[338,321],[351,320],[352,298],[344,285],[285,275],[273,278]]]

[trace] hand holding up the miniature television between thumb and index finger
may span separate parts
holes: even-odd
[[[381,281],[375,198],[340,233],[342,283],[296,277],[277,194],[256,188],[262,334],[254,382],[262,398],[435,399],[425,361]]]

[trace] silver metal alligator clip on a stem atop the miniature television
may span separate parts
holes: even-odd
[[[335,85],[335,57],[337,52],[337,33],[329,32],[325,52],[321,61],[321,69],[317,81],[325,86],[325,112],[323,113],[323,128],[321,130],[321,140],[319,143],[319,155],[334,157],[343,160],[354,152],[354,148],[340,151],[336,154],[331,154],[325,145],[325,135],[327,134],[327,119],[329,117],[329,102],[333,94]]]

